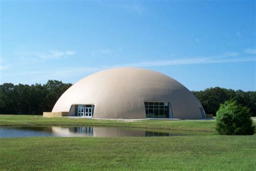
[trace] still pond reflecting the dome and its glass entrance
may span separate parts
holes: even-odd
[[[126,127],[95,126],[9,126],[0,127],[0,138],[29,136],[91,136],[91,137],[124,137],[124,136],[181,136],[198,135],[202,132],[163,131],[152,129],[135,129]]]

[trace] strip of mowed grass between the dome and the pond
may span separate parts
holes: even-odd
[[[43,118],[40,115],[0,115],[0,126],[17,125],[74,125],[118,126],[150,129],[173,129],[184,131],[215,131],[215,120],[97,120],[85,118]]]

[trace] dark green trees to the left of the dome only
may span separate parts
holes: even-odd
[[[43,114],[72,84],[49,80],[46,84],[0,85],[0,114]]]

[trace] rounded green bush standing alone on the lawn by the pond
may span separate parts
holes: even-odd
[[[237,101],[228,100],[221,104],[216,115],[216,129],[220,135],[254,134],[250,110]]]

